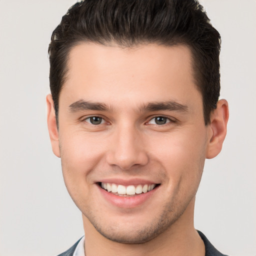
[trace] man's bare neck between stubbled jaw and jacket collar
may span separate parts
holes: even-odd
[[[204,244],[193,226],[194,199],[183,214],[165,231],[155,238],[139,244],[111,241],[102,236],[83,215],[85,233],[85,255],[204,255]]]

